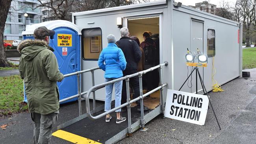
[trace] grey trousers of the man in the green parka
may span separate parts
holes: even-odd
[[[49,144],[52,137],[52,127],[56,124],[58,113],[39,114],[31,113],[34,122],[34,144]]]

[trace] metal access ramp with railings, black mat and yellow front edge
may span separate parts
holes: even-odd
[[[167,86],[167,83],[162,84],[162,66],[167,66],[168,63],[165,62],[163,64],[154,66],[152,68],[149,68],[148,70],[144,70],[141,72],[137,72],[135,74],[124,76],[119,79],[115,79],[113,81],[109,81],[100,85],[95,85],[91,89],[89,89],[86,92],[80,92],[80,89],[78,90],[78,94],[75,96],[71,96],[70,98],[78,97],[79,104],[79,112],[81,111],[80,115],[77,118],[74,118],[73,120],[70,120],[68,122],[65,122],[64,124],[61,124],[58,126],[58,131],[54,132],[52,135],[55,137],[59,137],[65,140],[68,140],[72,143],[76,144],[96,144],[96,143],[106,143],[106,144],[113,144],[118,142],[119,140],[122,140],[123,138],[127,136],[132,136],[132,133],[136,131],[137,129],[144,129],[145,124],[158,116],[160,113],[164,113],[164,106],[163,106],[163,88]],[[142,75],[150,72],[154,69],[159,68],[160,72],[160,83],[161,85],[145,94],[143,94],[142,89]],[[92,70],[84,70],[83,72],[89,72],[94,71],[98,68],[92,68]],[[78,79],[80,79],[81,72],[72,73],[77,74]],[[72,76],[72,74],[68,74],[68,76]],[[133,100],[130,100],[130,90],[129,90],[129,78],[132,78],[134,76],[139,76],[139,85],[140,85],[140,96],[138,98],[135,98]],[[92,72],[92,78],[94,79],[94,75]],[[104,105],[101,105],[100,107],[95,107],[95,90],[101,89],[105,87],[105,85],[108,85],[110,83],[115,83],[117,81],[126,80],[126,93],[127,95],[127,102],[122,104],[120,107],[114,108],[112,105],[112,109],[104,112]],[[79,81],[79,80],[78,80]],[[80,82],[79,82],[80,83]],[[94,85],[94,80],[93,80]],[[93,110],[90,110],[89,105],[89,95],[93,92]],[[150,94],[154,94],[156,92],[158,93],[159,98],[153,98],[154,100],[150,101],[150,98],[146,98],[146,96]],[[86,96],[83,96],[85,95]],[[81,98],[85,98],[86,102],[86,112],[85,114],[82,114],[81,109]],[[69,100],[68,98],[66,100]],[[148,111],[137,111],[137,107],[133,107],[133,103],[137,100],[141,101],[141,106],[143,105],[143,102],[146,106],[147,104],[155,102],[154,107],[150,107],[151,109]],[[63,100],[62,100],[63,101]],[[116,114],[115,110],[126,107],[128,111],[125,113],[122,113],[122,116],[126,117],[126,121],[122,122],[121,124],[116,124]],[[143,107],[141,107],[143,109]],[[107,114],[111,114],[112,118],[110,122],[105,122],[105,116]]]

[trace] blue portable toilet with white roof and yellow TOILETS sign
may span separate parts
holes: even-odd
[[[50,39],[49,46],[54,49],[59,70],[62,74],[70,74],[80,71],[80,35],[78,26],[66,20],[53,20],[41,22],[39,24],[27,25],[26,30],[22,31],[23,40],[34,39],[34,30],[40,26],[45,26],[49,30],[54,30],[55,35]],[[78,94],[77,76],[69,76],[61,82],[57,82],[59,88],[59,100]],[[66,102],[77,100],[73,98]],[[24,86],[24,102],[28,102]],[[63,102],[63,103],[66,103]]]

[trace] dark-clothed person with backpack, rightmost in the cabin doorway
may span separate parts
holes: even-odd
[[[141,42],[140,46],[144,50],[145,54],[145,69],[151,68],[153,66],[156,66],[157,63],[157,49],[156,49],[156,43],[153,39],[151,39],[150,34],[148,31],[145,31],[143,33],[143,39],[144,41]],[[154,76],[157,70],[153,70],[152,72],[148,72],[145,74],[145,80],[146,80],[146,87],[147,90],[153,90],[154,89]]]

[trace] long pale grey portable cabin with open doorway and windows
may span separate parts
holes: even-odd
[[[191,72],[191,67],[186,66],[187,48],[195,53],[198,48],[208,55],[208,66],[199,68],[208,91],[212,89],[213,56],[214,79],[219,84],[242,74],[242,25],[191,7],[178,6],[172,0],[73,13],[72,22],[82,32],[82,70],[97,66],[99,54],[108,44],[107,35],[113,34],[117,40],[121,38],[118,20],[140,42],[144,41],[144,31],[159,33],[160,63],[169,62],[168,69],[163,72],[163,82],[168,83],[168,89],[178,90]],[[95,76],[95,84],[104,82],[103,71],[95,71]],[[92,86],[91,75],[83,74],[82,79],[86,79],[82,80],[82,91],[86,91]],[[195,78],[192,78],[191,88],[185,86],[182,91],[195,92]],[[198,86],[198,90],[202,87]],[[104,100],[104,89],[96,91],[96,100]]]

